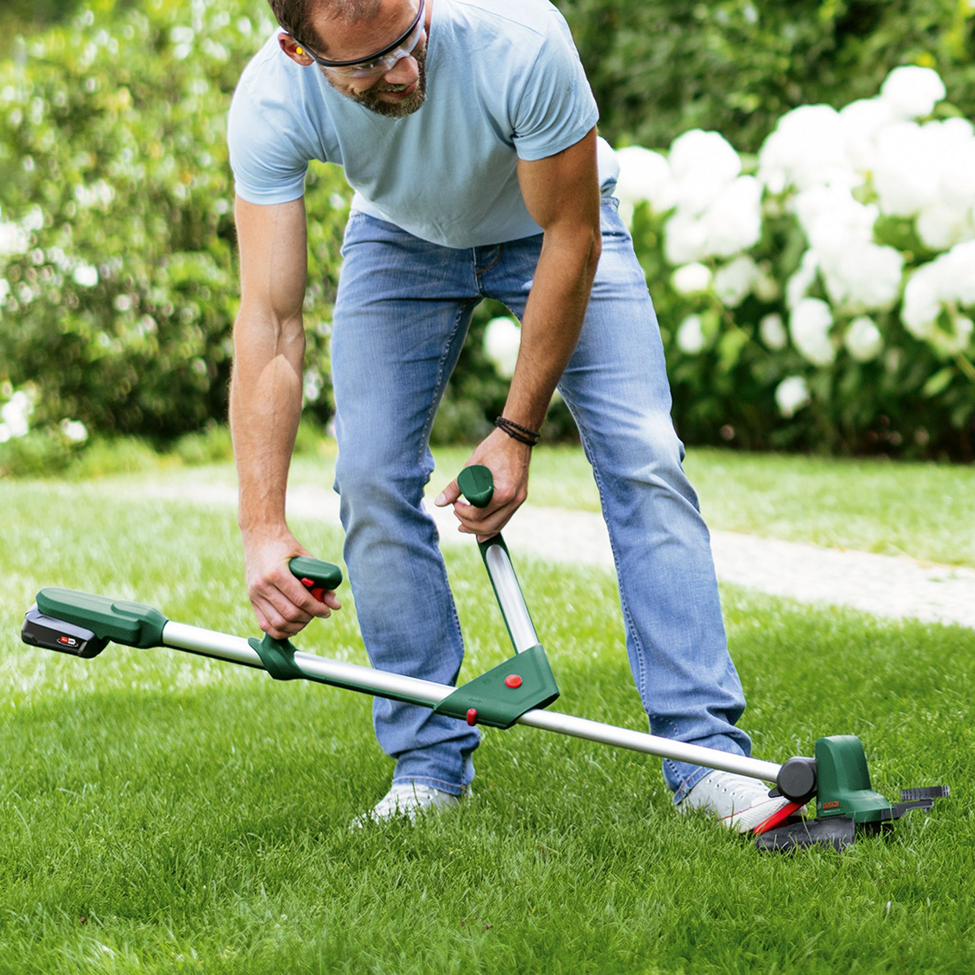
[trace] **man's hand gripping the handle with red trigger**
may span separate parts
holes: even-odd
[[[326,592],[319,603],[292,575],[289,563],[299,555],[311,553],[298,544],[287,528],[244,535],[248,596],[257,625],[276,640],[287,640],[315,616],[325,619],[331,616],[332,609],[341,608],[333,591]]]

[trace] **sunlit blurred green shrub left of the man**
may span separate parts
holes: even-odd
[[[224,119],[269,21],[258,3],[146,6],[0,63],[0,229],[22,252],[4,268],[0,247],[0,379],[35,384],[35,424],[159,440],[226,414],[239,284]],[[308,361],[326,375],[348,196],[337,171],[310,177]],[[315,409],[327,418],[327,395]]]

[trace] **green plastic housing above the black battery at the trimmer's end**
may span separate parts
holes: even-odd
[[[169,622],[153,606],[54,586],[45,586],[37,594],[37,608],[45,616],[82,626],[104,640],[143,649],[163,645],[163,627]]]

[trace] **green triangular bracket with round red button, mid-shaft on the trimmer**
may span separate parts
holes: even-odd
[[[519,686],[504,683],[505,678],[515,675],[522,679]],[[559,685],[555,683],[545,650],[538,643],[492,667],[487,674],[462,684],[434,711],[466,721],[473,709],[477,715],[470,723],[510,728],[526,711],[546,708],[558,697]]]

